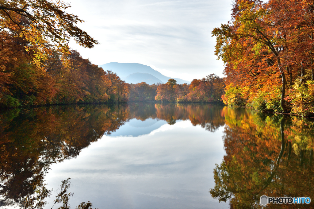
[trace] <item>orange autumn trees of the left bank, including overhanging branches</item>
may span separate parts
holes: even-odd
[[[0,1],[1,106],[110,98],[106,72],[68,47],[71,38],[83,47],[98,44],[76,26],[83,20],[67,13],[69,7],[62,1]],[[118,95],[127,100],[126,85],[119,85]]]

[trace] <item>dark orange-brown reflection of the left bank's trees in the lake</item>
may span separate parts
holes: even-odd
[[[11,113],[11,114],[10,114]],[[21,202],[32,194],[51,163],[75,157],[128,118],[125,106],[36,108],[0,117],[2,195]]]

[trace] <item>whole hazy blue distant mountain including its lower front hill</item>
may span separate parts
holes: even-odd
[[[99,65],[104,70],[111,70],[116,73],[120,78],[125,80],[127,83],[141,83],[144,80],[147,84],[153,83],[166,83],[170,77],[167,77],[157,70],[151,67],[139,63],[107,63]],[[187,80],[182,80],[180,78],[173,78],[177,81],[177,84],[190,83]],[[128,81],[129,80],[129,81]]]

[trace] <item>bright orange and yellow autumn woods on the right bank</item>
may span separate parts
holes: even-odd
[[[314,1],[234,0],[212,31],[225,63],[223,102],[260,111],[314,113]]]

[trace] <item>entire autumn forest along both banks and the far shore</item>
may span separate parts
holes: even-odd
[[[314,2],[234,0],[215,28],[225,78],[127,84],[68,46],[99,44],[62,1],[0,0],[0,107],[71,103],[209,102],[314,114]]]

